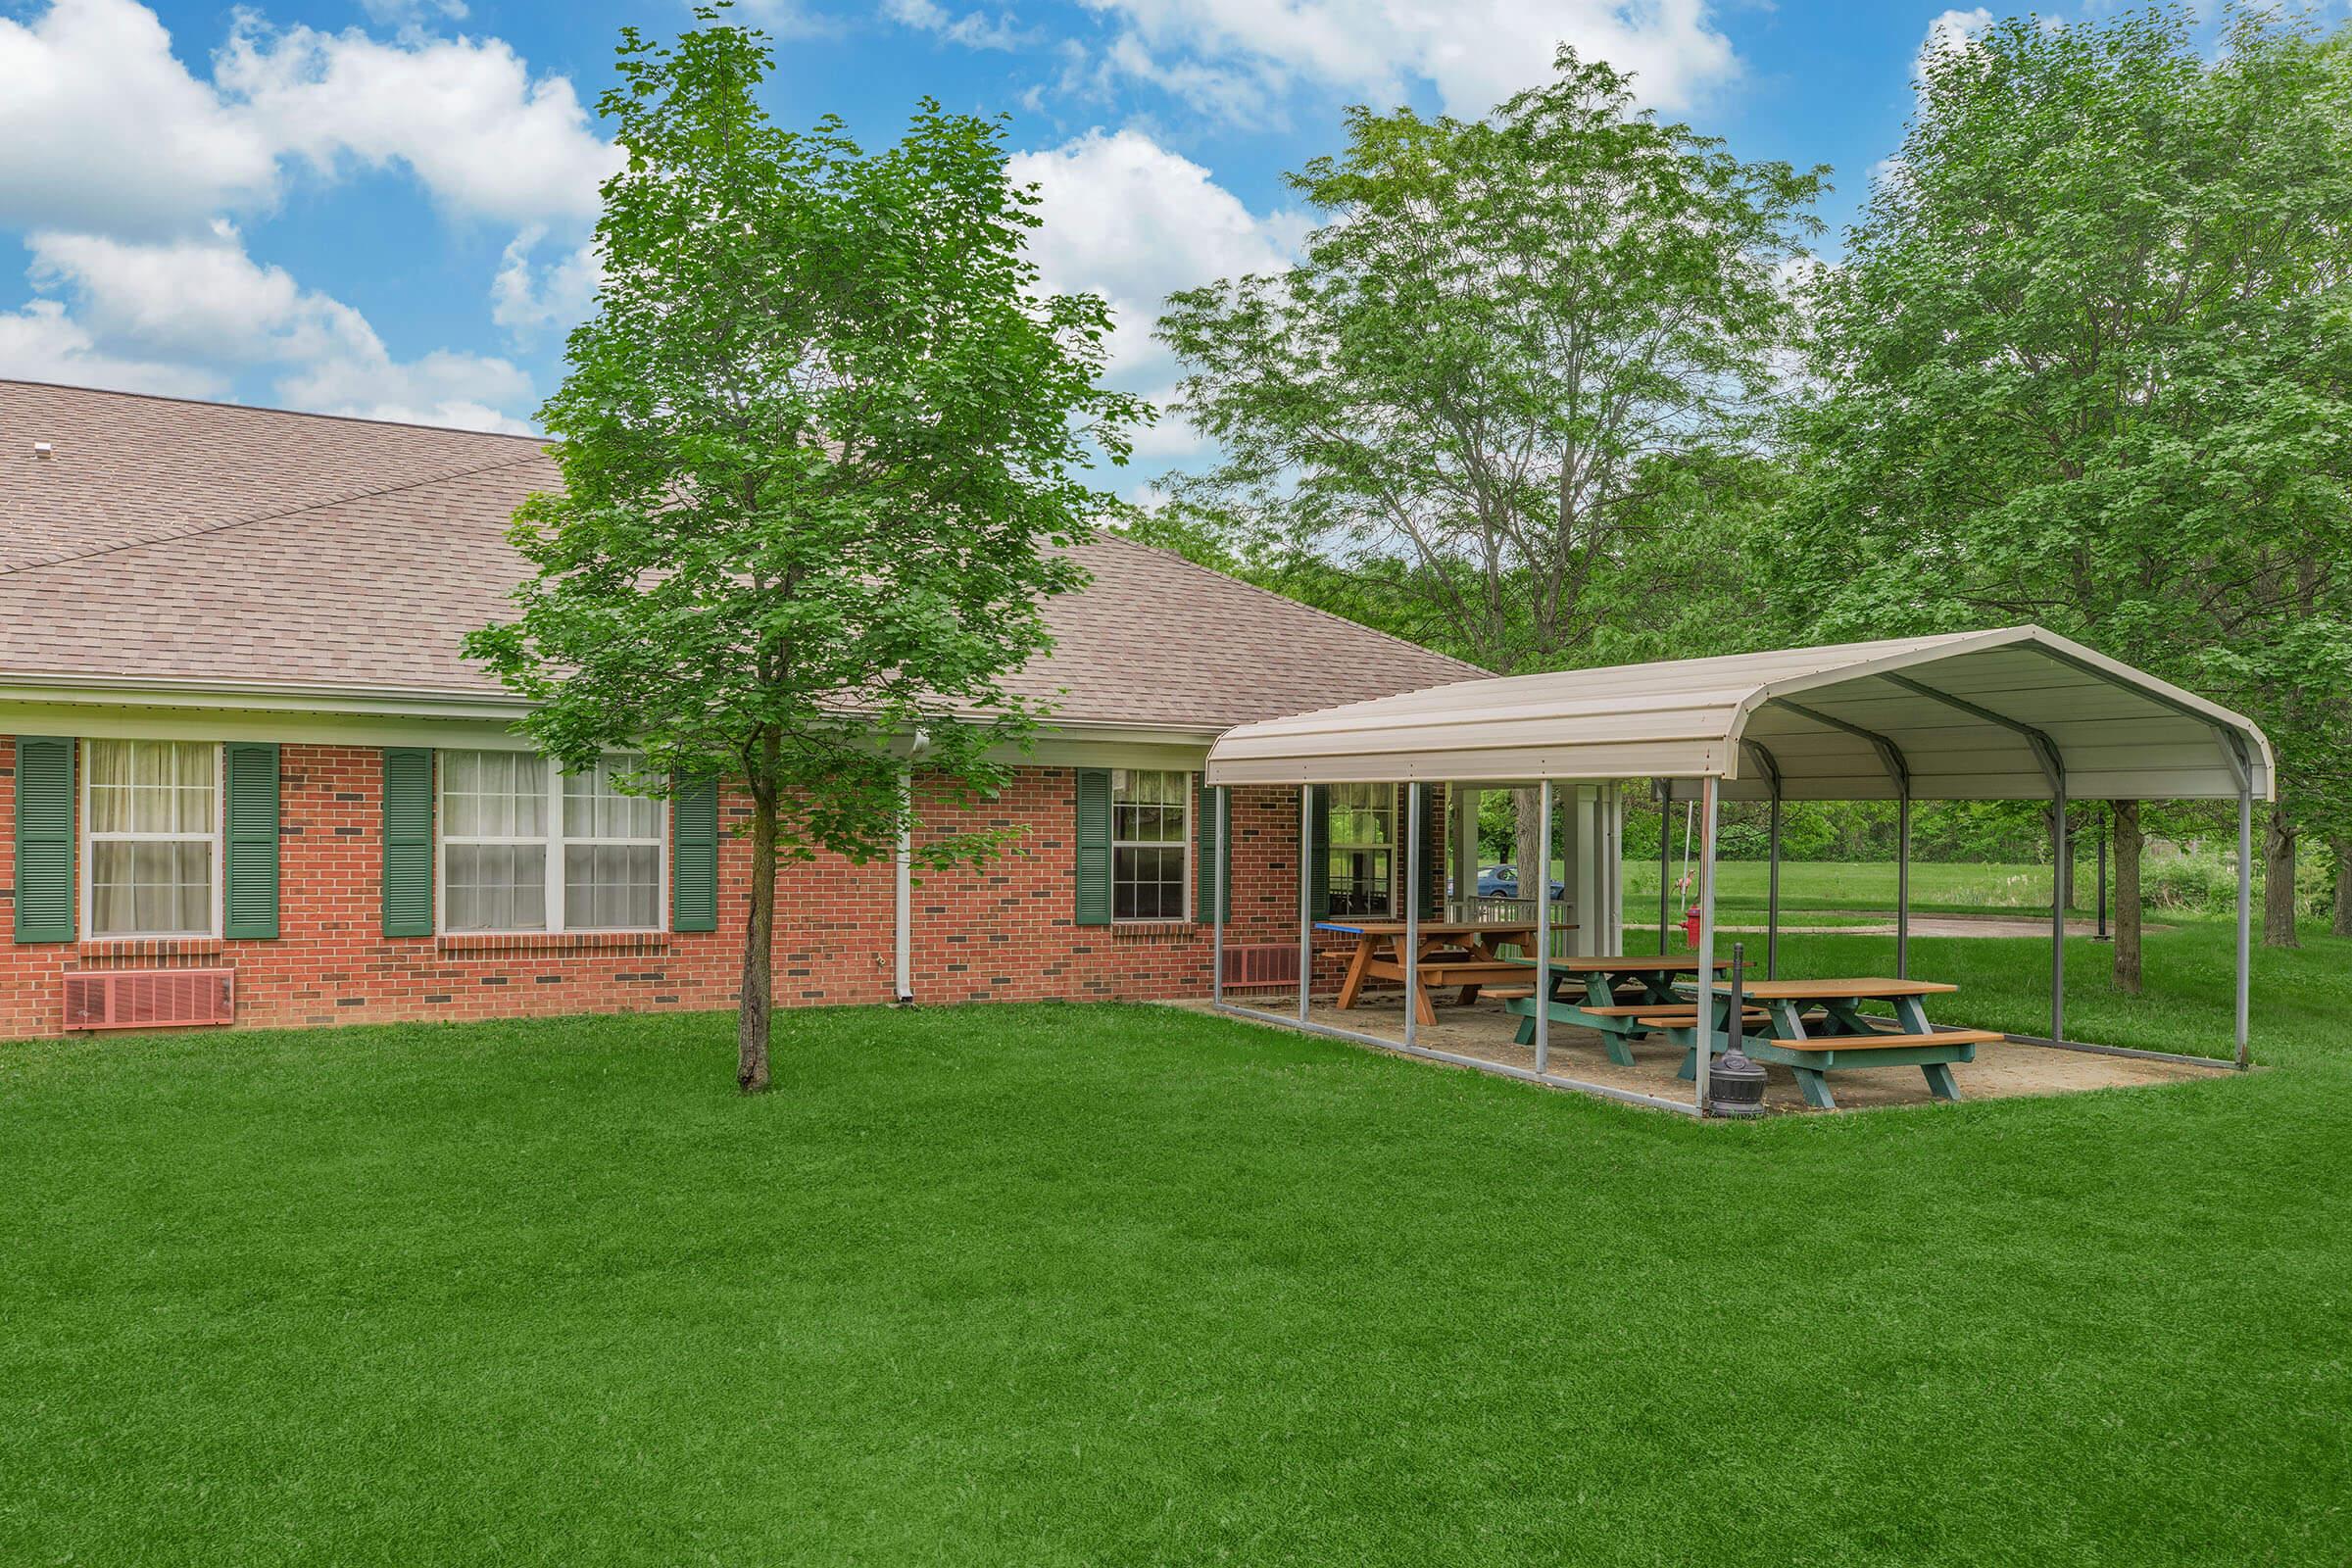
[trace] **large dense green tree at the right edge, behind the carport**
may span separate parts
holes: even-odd
[[[2347,80],[2265,12],[2213,56],[2178,9],[1940,54],[1792,421],[1790,588],[1828,632],[2039,621],[2249,710],[2272,889],[2352,677]]]

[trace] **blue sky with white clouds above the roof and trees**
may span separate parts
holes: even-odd
[[[1277,266],[1282,172],[1348,103],[1479,113],[1552,40],[1639,73],[1743,158],[1828,162],[1832,230],[1910,108],[1947,5],[1806,0],[757,0],[769,106],[868,141],[913,101],[1009,115],[1056,287],[1122,310],[1164,395],[1169,289]],[[527,428],[593,287],[621,26],[670,0],[0,0],[0,376]],[[1835,233],[1828,240],[1835,252]],[[1178,425],[1117,477],[1197,461]]]

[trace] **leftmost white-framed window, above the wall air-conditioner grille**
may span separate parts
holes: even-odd
[[[221,933],[221,748],[82,743],[82,931]]]

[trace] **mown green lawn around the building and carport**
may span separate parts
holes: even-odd
[[[2227,1046],[2223,926],[2100,957]],[[0,1561],[2343,1563],[2347,959],[1762,1126],[1169,1009],[0,1046]]]

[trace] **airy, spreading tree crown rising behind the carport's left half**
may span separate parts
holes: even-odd
[[[1783,341],[1816,174],[1738,162],[1562,49],[1489,120],[1348,113],[1289,176],[1282,275],[1176,294],[1160,339],[1221,461],[1174,489],[1388,581],[1463,656],[1557,668],[1628,534],[1733,447]]]

